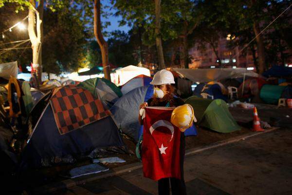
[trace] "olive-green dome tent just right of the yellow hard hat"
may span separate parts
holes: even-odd
[[[192,96],[187,98],[185,103],[192,105],[198,124],[202,127],[220,133],[230,133],[241,129],[222,99],[213,100]]]

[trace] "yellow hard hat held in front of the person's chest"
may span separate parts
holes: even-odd
[[[194,109],[190,104],[176,107],[171,114],[171,123],[180,129],[187,129],[193,124]]]

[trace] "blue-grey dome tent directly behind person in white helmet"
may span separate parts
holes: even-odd
[[[121,131],[136,141],[142,133],[142,127],[138,121],[139,106],[152,96],[152,85],[138,87],[120,98],[110,109]],[[193,125],[185,131],[184,135],[197,135],[196,127]]]

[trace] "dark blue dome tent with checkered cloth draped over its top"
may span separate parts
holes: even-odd
[[[58,89],[43,110],[22,153],[22,166],[66,162],[96,148],[122,147],[118,128],[98,98],[81,87]]]

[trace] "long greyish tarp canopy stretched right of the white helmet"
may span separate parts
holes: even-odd
[[[242,78],[244,75],[249,77],[262,77],[259,74],[246,70],[245,68],[211,68],[211,69],[182,69],[175,68],[182,77],[188,78],[193,82],[210,82],[224,78]]]

